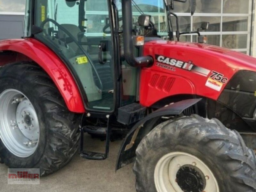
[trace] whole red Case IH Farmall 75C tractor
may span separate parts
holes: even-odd
[[[27,1],[24,38],[0,41],[2,163],[43,176],[123,137],[138,192],[256,190],[256,59],[174,33],[156,2]]]

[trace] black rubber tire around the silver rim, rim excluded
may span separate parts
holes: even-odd
[[[17,90],[30,101],[40,134],[35,152],[24,157],[14,155],[1,140],[1,161],[10,168],[40,168],[41,176],[66,165],[78,149],[80,115],[69,112],[52,79],[35,63],[9,64],[0,68],[0,96],[6,90]]]

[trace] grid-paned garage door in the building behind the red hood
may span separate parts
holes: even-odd
[[[201,22],[210,22],[209,29],[201,34],[208,37],[208,44],[250,54],[252,0],[197,0],[193,17],[189,17],[189,4],[176,3],[177,14],[183,30],[195,31]],[[183,40],[195,42],[196,36]]]

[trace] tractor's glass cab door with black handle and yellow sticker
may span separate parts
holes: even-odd
[[[115,108],[114,47],[109,0],[38,0],[36,38],[66,61],[84,93],[87,111]]]

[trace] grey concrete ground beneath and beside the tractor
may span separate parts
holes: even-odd
[[[104,142],[86,136],[88,149],[104,150]],[[60,171],[40,178],[40,185],[7,185],[7,166],[0,164],[0,191],[3,192],[135,192],[132,164],[115,172],[116,158],[122,141],[110,143],[108,159],[86,160],[76,154]]]

